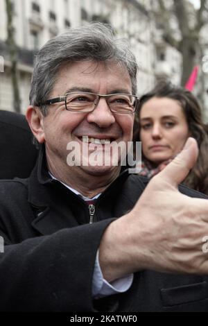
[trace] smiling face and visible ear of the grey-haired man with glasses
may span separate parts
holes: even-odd
[[[132,96],[127,69],[111,60],[62,63],[57,74],[58,81],[49,96],[53,103],[46,117],[39,107],[32,105],[26,116],[37,141],[46,145],[49,171],[58,180],[91,198],[110,185],[119,175],[121,166],[119,162],[112,165],[110,157],[111,164],[103,162],[92,166],[86,158],[87,164],[78,162],[69,168],[67,145],[71,141],[80,145],[78,157],[81,162],[83,151],[89,155],[102,151],[106,161],[106,156],[112,155],[112,142],[124,141],[127,146],[132,140],[137,98]],[[63,98],[59,102],[64,94],[67,94],[66,100]],[[96,94],[108,96],[96,98]],[[57,98],[58,103],[53,98]]]

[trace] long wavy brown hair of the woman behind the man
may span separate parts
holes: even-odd
[[[151,92],[141,96],[134,126],[134,141],[140,140],[139,113],[150,98],[171,98],[180,103],[187,119],[191,137],[198,143],[199,155],[184,184],[204,194],[208,194],[208,127],[202,121],[202,110],[193,94],[182,87],[175,87],[171,83],[159,83]]]

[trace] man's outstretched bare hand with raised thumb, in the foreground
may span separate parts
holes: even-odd
[[[181,153],[150,180],[132,211],[107,228],[100,264],[108,281],[143,269],[208,274],[208,254],[202,251],[208,201],[177,189],[197,157],[196,140],[189,138]]]

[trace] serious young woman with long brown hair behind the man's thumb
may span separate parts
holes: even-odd
[[[189,136],[198,142],[196,166],[184,183],[208,194],[208,128],[196,98],[186,89],[159,83],[141,97],[134,140],[141,141],[140,175],[153,177],[180,153]]]

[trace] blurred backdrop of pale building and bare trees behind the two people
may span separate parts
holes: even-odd
[[[158,80],[184,86],[195,74],[193,93],[208,121],[208,0],[0,0],[0,110],[24,113],[37,50],[92,21],[128,38],[138,96]]]

